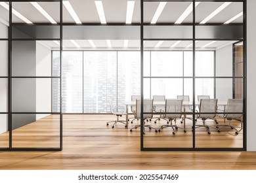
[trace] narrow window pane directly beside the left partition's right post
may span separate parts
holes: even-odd
[[[63,52],[62,112],[83,112],[83,52]]]

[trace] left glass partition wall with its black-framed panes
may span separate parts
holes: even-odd
[[[47,46],[55,45],[61,58],[60,1],[1,1],[0,5],[0,45],[4,51],[0,148],[61,150],[61,103],[58,112],[52,112],[51,95],[53,82],[58,83],[61,93],[61,59],[58,74],[53,75],[51,47]]]

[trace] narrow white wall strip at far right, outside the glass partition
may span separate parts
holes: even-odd
[[[247,150],[256,151],[256,1],[247,0]]]

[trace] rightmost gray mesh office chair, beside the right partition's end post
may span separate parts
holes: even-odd
[[[241,131],[243,129],[243,114],[230,114],[230,112],[243,112],[243,99],[228,99],[228,105],[226,107],[226,113],[229,114],[225,114],[224,115],[224,119],[228,120],[228,125],[224,124],[224,125],[217,125],[216,127],[219,128],[220,126],[223,127],[230,127],[231,129],[234,129],[236,131],[236,135],[239,134],[239,131]],[[241,122],[241,127],[234,127],[231,124],[231,120],[237,120],[239,122]],[[236,128],[240,128],[240,130],[238,131],[238,129]]]

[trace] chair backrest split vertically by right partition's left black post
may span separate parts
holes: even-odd
[[[136,100],[136,116],[137,118],[140,118],[140,112],[141,112],[141,102],[140,99]],[[153,99],[144,99],[143,101],[143,112],[152,112],[153,108]],[[153,114],[144,114],[143,118],[152,118]]]

